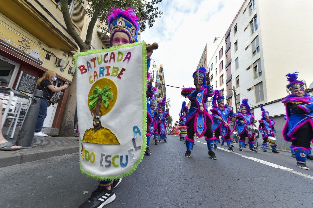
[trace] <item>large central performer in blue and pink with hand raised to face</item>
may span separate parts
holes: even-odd
[[[190,100],[191,105],[185,122],[187,126],[185,157],[190,157],[194,144],[193,134],[198,137],[205,135],[208,145],[208,154],[211,159],[216,160],[213,152],[215,137],[212,133],[212,118],[207,111],[207,99],[213,96],[213,88],[210,84],[210,77],[206,75],[206,68],[200,67],[192,74],[196,88],[182,90],[182,96]]]

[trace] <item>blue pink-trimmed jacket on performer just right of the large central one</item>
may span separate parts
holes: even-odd
[[[218,120],[218,117],[221,117],[224,121],[228,123],[231,117],[234,117],[235,115],[233,110],[230,110],[229,108],[220,109],[219,107],[213,107],[213,109],[211,109],[211,112],[213,113],[212,131],[216,131],[219,129],[221,137],[226,137],[228,132],[230,133],[231,129],[229,125],[225,124],[225,122]]]

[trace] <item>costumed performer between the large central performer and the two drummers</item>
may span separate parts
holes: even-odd
[[[217,150],[219,136],[222,140],[225,140],[228,146],[228,150],[234,151],[232,147],[232,138],[230,138],[230,126],[228,122],[234,117],[233,107],[224,103],[224,96],[221,96],[219,90],[214,90],[214,96],[212,99],[211,112],[213,114],[212,131],[214,131],[214,149]]]

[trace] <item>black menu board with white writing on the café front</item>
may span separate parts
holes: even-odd
[[[23,71],[18,83],[17,90],[24,93],[33,94],[36,89],[37,81],[38,77]]]

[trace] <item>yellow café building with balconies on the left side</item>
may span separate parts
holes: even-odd
[[[36,79],[48,69],[57,73],[56,87],[71,83],[73,55],[79,48],[68,33],[59,5],[59,0],[7,0],[1,4],[0,78],[9,82],[9,88],[18,89],[24,74]],[[75,29],[85,40],[86,23],[90,22],[85,14],[87,1],[68,0],[68,6]],[[108,48],[109,36],[100,29],[105,25],[96,25],[92,48]],[[23,92],[33,96],[27,89]],[[59,103],[48,108],[44,127],[59,128],[68,92],[69,88],[63,90]]]

